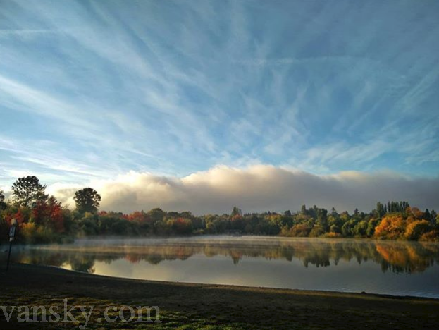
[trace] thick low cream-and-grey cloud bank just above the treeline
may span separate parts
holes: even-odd
[[[246,169],[217,166],[184,178],[129,173],[90,183],[102,197],[101,209],[118,212],[190,211],[194,214],[296,211],[302,204],[370,211],[376,202],[407,200],[421,209],[439,209],[439,178],[408,178],[392,172],[341,172],[319,176],[304,171],[258,165]],[[78,186],[49,187],[61,202],[74,205]]]

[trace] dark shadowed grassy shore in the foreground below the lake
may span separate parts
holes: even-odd
[[[116,279],[13,264],[0,275],[0,306],[95,305],[86,329],[438,329],[439,300],[369,294]],[[159,306],[161,322],[99,323],[108,305]],[[79,316],[80,313],[73,313]],[[0,329],[79,329],[85,322],[19,323]],[[61,315],[63,319],[63,315]]]

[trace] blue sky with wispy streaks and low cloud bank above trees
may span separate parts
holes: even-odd
[[[0,189],[439,209],[439,1],[0,0]],[[264,209],[262,209],[264,208]]]

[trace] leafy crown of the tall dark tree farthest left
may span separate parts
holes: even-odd
[[[44,194],[46,185],[39,183],[36,176],[25,176],[18,178],[12,187],[13,202],[19,206],[32,207],[41,200],[46,200],[47,195]]]

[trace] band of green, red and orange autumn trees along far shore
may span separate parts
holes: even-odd
[[[190,212],[99,212],[101,196],[92,188],[75,193],[75,209],[63,207],[45,193],[46,185],[35,176],[18,178],[8,200],[0,190],[0,243],[16,219],[18,243],[66,243],[87,236],[190,236],[270,235],[323,238],[376,238],[439,242],[439,216],[434,210],[421,211],[408,202],[378,202],[369,213],[305,205],[298,212],[242,214],[233,207],[230,214],[195,216]]]

